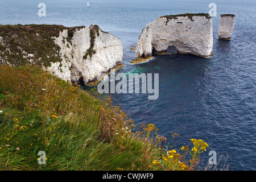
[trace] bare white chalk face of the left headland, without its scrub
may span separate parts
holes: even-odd
[[[121,41],[96,25],[76,30],[71,43],[67,37],[68,30],[63,30],[55,38],[62,61],[47,68],[64,80],[88,84],[96,81],[101,73],[107,73],[109,69],[122,64]]]

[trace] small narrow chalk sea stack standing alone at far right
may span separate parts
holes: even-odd
[[[218,39],[230,40],[234,29],[235,16],[233,14],[220,15],[220,25],[218,27]]]

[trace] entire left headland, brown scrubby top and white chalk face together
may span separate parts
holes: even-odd
[[[0,26],[0,64],[37,64],[73,84],[122,65],[121,41],[97,25]]]

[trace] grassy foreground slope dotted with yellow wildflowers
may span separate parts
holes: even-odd
[[[0,65],[0,127],[1,170],[194,170],[208,147],[191,139],[191,150],[168,151],[154,125],[134,131],[110,98],[31,66]]]

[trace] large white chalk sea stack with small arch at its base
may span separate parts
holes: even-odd
[[[212,18],[209,14],[161,16],[144,27],[135,51],[136,59],[166,52],[174,46],[178,53],[210,57],[213,48]]]

